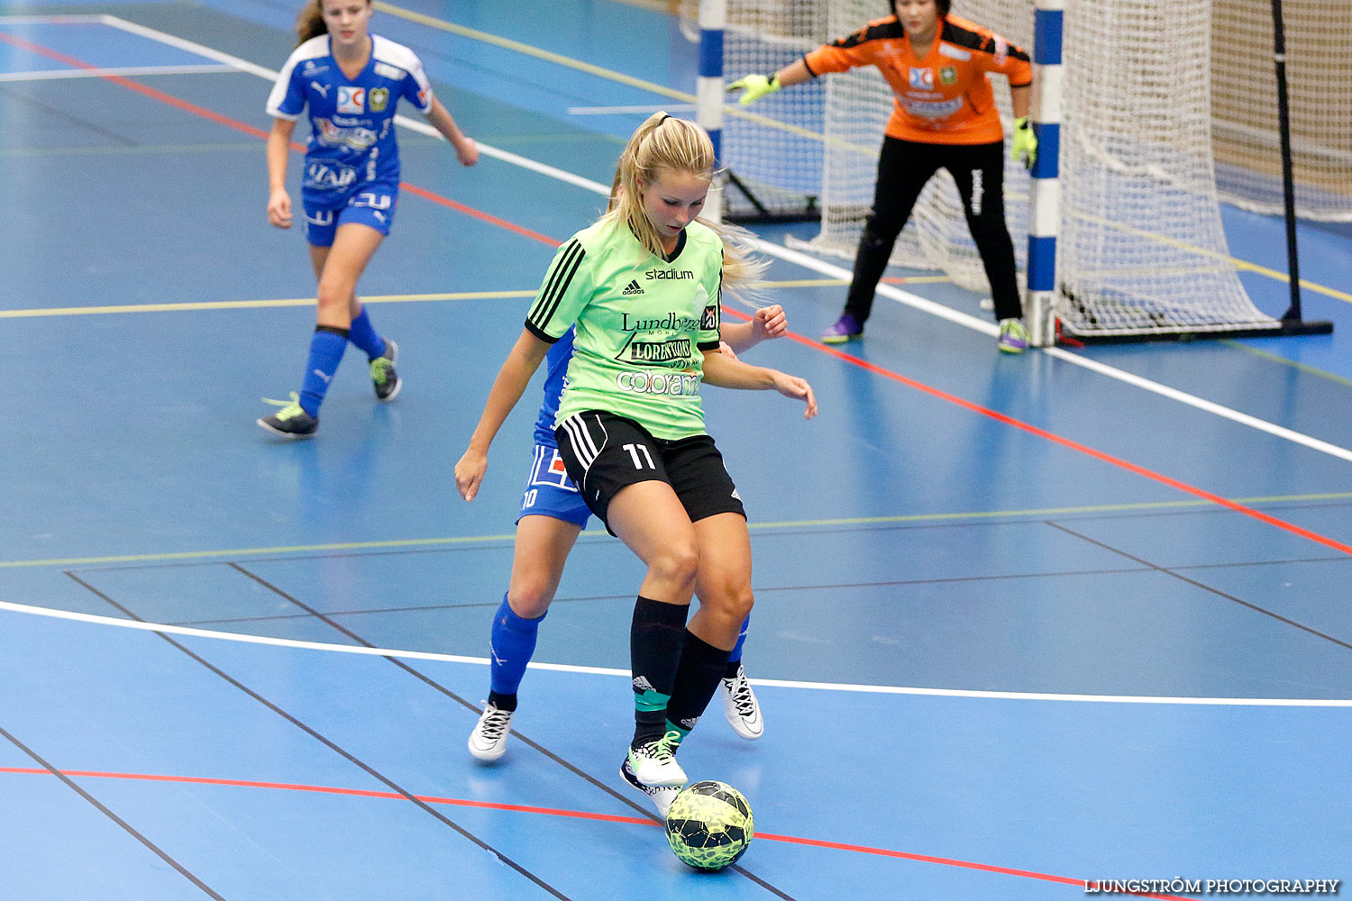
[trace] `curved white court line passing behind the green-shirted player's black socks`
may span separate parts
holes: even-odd
[[[142,623],[126,620],[115,616],[99,616],[96,613],[77,613],[74,611],[58,611],[47,607],[32,607],[28,604],[14,604],[0,601],[0,611],[11,613],[27,613],[30,616],[45,616],[47,619],[69,620],[74,623],[88,623],[93,625],[114,625],[118,628],[137,629],[141,632],[155,632],[160,635],[184,635],[188,638],[208,638],[223,642],[239,642],[243,644],[269,644],[272,647],[293,647],[308,651],[331,651],[337,654],[361,654],[365,657],[392,657],[404,661],[437,661],[441,663],[473,663],[487,666],[488,658],[460,657],[456,654],[435,654],[433,651],[400,651],[385,647],[364,647],[358,644],[329,644],[324,642],[300,642],[289,638],[270,638],[266,635],[246,635],[242,632],[219,632],[214,629],[200,629],[191,625],[165,625],[162,623]],[[537,663],[527,665],[533,670],[550,670],[554,673],[581,673],[587,675],[623,675],[630,677],[629,670],[617,670],[602,666],[569,666],[566,663]],[[967,697],[967,698],[994,698],[1005,701],[1078,701],[1099,704],[1174,704],[1192,706],[1332,706],[1352,708],[1352,700],[1326,698],[1276,698],[1276,697],[1151,697],[1138,694],[1052,694],[1044,692],[976,692],[967,689],[922,689],[902,688],[895,685],[849,685],[844,682],[803,682],[798,679],[749,679],[753,685],[772,688],[814,689],[818,692],[859,692],[868,694],[914,694],[923,697]]]

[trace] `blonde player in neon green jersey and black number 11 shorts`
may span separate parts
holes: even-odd
[[[456,488],[473,500],[493,436],[576,324],[554,438],[588,509],[648,567],[630,627],[634,738],[621,773],[660,812],[685,783],[676,748],[718,690],[753,602],[746,515],[704,431],[700,382],[776,390],[817,413],[804,380],[719,350],[725,282],[760,267],[696,219],[714,162],[694,123],[656,113],[638,127],[614,209],[554,257],[456,463]],[[692,596],[700,605],[687,617]]]

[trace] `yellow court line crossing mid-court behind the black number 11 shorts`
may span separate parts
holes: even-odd
[[[1238,504],[1290,504],[1293,501],[1345,501],[1352,500],[1352,492],[1337,492],[1328,494],[1286,494],[1278,497],[1240,497],[1233,498]],[[845,519],[807,519],[786,520],[780,523],[749,523],[752,531],[771,528],[819,528],[823,525],[886,525],[888,523],[944,523],[964,519],[1000,519],[1000,517],[1028,517],[1028,516],[1067,516],[1072,513],[1121,513],[1129,511],[1153,509],[1187,509],[1213,507],[1206,500],[1183,501],[1151,501],[1138,504],[1095,504],[1092,507],[1049,507],[1044,509],[1013,509],[1013,511],[984,511],[984,512],[957,512],[957,513],[911,513],[907,516],[857,516]],[[606,532],[599,528],[589,528],[583,535],[589,538],[606,538]],[[399,547],[441,547],[454,544],[487,544],[492,542],[510,542],[515,535],[466,535],[462,538],[407,538],[384,542],[341,542],[335,544],[287,544],[281,547],[237,547],[224,551],[174,551],[166,554],[124,554],[119,557],[65,557],[45,561],[0,561],[0,569],[26,569],[35,566],[92,566],[96,563],[154,563],[169,561],[191,559],[218,559],[223,557],[260,557],[264,554],[315,554],[323,551],[369,551]]]

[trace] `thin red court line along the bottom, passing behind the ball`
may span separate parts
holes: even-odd
[[[0,766],[0,773],[7,773],[11,775],[53,775],[51,770],[45,770],[41,767],[23,767],[23,766]],[[375,792],[369,789],[342,789],[329,785],[297,785],[291,782],[254,782],[250,779],[212,779],[196,775],[157,775],[151,773],[99,773],[93,770],[61,770],[61,775],[69,778],[93,778],[93,779],[135,779],[142,782],[174,782],[187,785],[223,785],[230,788],[246,788],[246,789],[273,789],[281,792],[311,792],[320,794],[341,794],[347,797],[362,797],[362,798],[385,798],[392,801],[406,801],[407,798],[397,792]],[[464,798],[443,798],[430,794],[415,794],[416,800],[425,804],[448,804],[453,806],[465,808],[479,808],[488,810],[507,810],[512,813],[542,813],[545,816],[558,816],[571,817],[576,820],[595,820],[600,823],[621,823],[625,825],[658,825],[657,821],[648,817],[634,817],[634,816],[612,816],[608,813],[591,813],[587,810],[564,810],[560,808],[539,808],[523,804],[498,804],[488,801],[466,801]],[[764,842],[784,842],[787,844],[802,844],[814,848],[829,848],[831,851],[849,851],[853,854],[872,854],[884,858],[896,858],[900,860],[914,860],[917,863],[936,863],[940,866],[960,867],[964,870],[977,870],[980,873],[995,873],[999,875],[1015,875],[1023,879],[1041,879],[1042,882],[1059,882],[1061,885],[1075,885],[1084,886],[1084,879],[1072,879],[1064,875],[1052,875],[1049,873],[1036,873],[1033,870],[1014,870],[1010,867],[992,866],[988,863],[973,863],[971,860],[957,860],[953,858],[936,858],[927,854],[910,854],[907,851],[892,851],[890,848],[873,848],[867,844],[846,844],[842,842],[823,842],[821,839],[803,839],[792,835],[775,835],[772,832],[757,832],[757,839]],[[1118,894],[1134,894],[1141,898],[1163,898],[1164,901],[1194,901],[1192,898],[1186,898],[1175,894],[1146,894],[1136,892],[1124,892]]]

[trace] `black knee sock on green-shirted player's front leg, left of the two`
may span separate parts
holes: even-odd
[[[667,704],[676,684],[688,612],[688,605],[664,604],[642,594],[634,602],[634,623],[629,631],[634,747],[660,739],[667,731]]]

